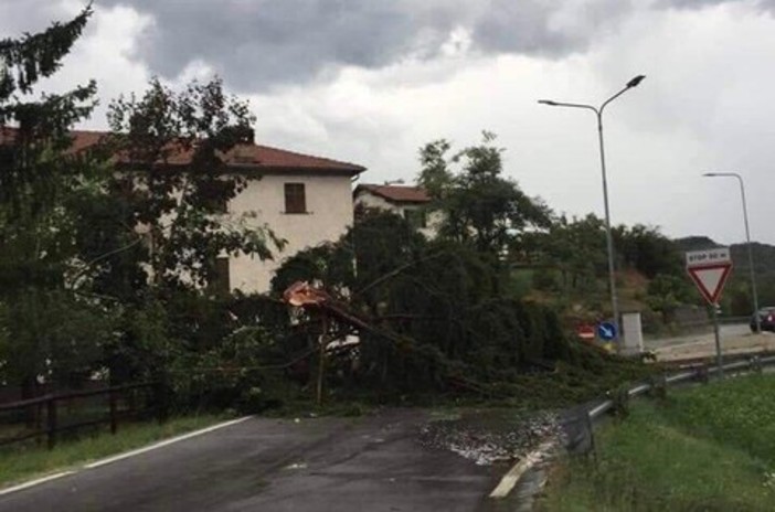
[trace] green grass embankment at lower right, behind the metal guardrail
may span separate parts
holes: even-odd
[[[541,510],[775,510],[775,375],[639,402],[596,442],[597,463],[556,468]]]

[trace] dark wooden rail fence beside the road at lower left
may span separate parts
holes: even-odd
[[[129,392],[134,392],[136,390],[151,390],[153,399],[146,399],[145,407],[137,407],[136,405],[139,399],[137,399],[135,396],[127,396]],[[99,412],[103,414],[99,414],[96,418],[92,417],[86,420],[75,422],[61,420],[62,415],[60,413],[62,410],[59,404],[63,402],[66,403],[65,412],[72,413],[72,409],[78,409],[78,407],[73,407],[74,399],[83,399],[103,395],[107,397],[107,414],[104,414],[105,404],[102,404],[102,410]],[[148,403],[155,405],[149,406]],[[25,428],[21,430],[21,434],[4,438],[0,437],[0,446],[45,436],[47,446],[51,449],[56,445],[56,439],[61,433],[94,427],[102,424],[110,424],[110,433],[116,434],[118,430],[118,420],[120,418],[139,416],[145,412],[152,412],[156,413],[159,420],[162,420],[167,413],[163,409],[162,404],[164,404],[164,401],[159,399],[159,386],[156,383],[139,383],[104,387],[99,390],[56,393],[43,395],[32,399],[0,404],[0,414],[18,410],[20,412],[21,416],[26,416],[24,422],[0,422],[0,425],[6,427],[19,423],[26,424]],[[34,419],[30,420],[30,418]]]

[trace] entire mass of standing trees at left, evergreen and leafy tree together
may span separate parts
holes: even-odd
[[[255,119],[220,81],[176,93],[155,79],[112,103],[112,136],[78,151],[70,130],[92,110],[93,83],[24,98],[91,13],[0,41],[0,377],[26,393],[105,367],[113,383],[173,386],[182,362],[227,358],[230,299],[203,292],[215,259],[283,245],[222,212],[245,186],[223,156],[253,142]]]

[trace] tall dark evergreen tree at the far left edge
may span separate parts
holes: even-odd
[[[102,179],[89,156],[72,149],[70,130],[92,111],[96,86],[33,97],[91,15],[88,6],[66,23],[0,41],[0,360],[2,376],[26,395],[40,376],[88,372],[109,332],[103,308],[67,287],[78,205],[100,193]]]

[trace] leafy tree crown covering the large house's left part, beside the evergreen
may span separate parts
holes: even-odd
[[[214,279],[219,256],[267,259],[272,248],[282,247],[251,215],[222,214],[246,184],[244,175],[226,172],[223,154],[253,143],[254,117],[247,104],[225,95],[221,81],[194,82],[181,93],[151,81],[142,97],[115,100],[108,120],[113,134],[106,143],[128,160],[109,183],[113,204],[95,209],[103,230],[93,236],[113,247],[142,244],[129,253],[131,259],[118,252],[95,266],[94,278],[106,292],[129,284],[134,289],[125,292],[137,297],[142,282],[201,288]],[[145,279],[141,269],[148,269]]]

